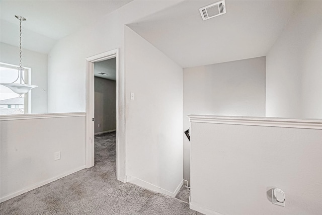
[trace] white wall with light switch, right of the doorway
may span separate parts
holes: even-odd
[[[129,181],[175,195],[183,179],[183,69],[128,27],[125,68]]]

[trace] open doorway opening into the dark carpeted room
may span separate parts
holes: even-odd
[[[95,166],[116,176],[116,57],[94,63]]]

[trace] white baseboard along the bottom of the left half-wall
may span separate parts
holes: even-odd
[[[58,180],[58,179],[60,179],[60,178],[63,178],[63,177],[65,177],[65,176],[67,176],[67,175],[70,175],[70,174],[72,174],[72,173],[74,173],[74,172],[77,172],[77,171],[79,171],[79,170],[83,170],[83,169],[85,169],[85,166],[78,167],[78,168],[76,168],[76,169],[73,169],[73,170],[71,170],[71,171],[65,172],[65,173],[63,173],[63,174],[61,174],[61,175],[58,175],[58,176],[53,177],[53,178],[50,178],[50,179],[48,179],[48,180],[41,181],[41,182],[39,182],[39,183],[36,183],[36,184],[31,185],[31,186],[29,186],[29,187],[26,187],[26,188],[24,188],[24,189],[22,189],[22,190],[19,190],[19,191],[17,191],[17,192],[14,192],[14,193],[11,193],[11,194],[6,195],[6,196],[4,196],[4,197],[1,197],[1,198],[0,198],[0,202],[7,201],[7,200],[9,200],[9,199],[11,199],[11,198],[14,198],[14,197],[16,197],[16,196],[18,196],[18,195],[21,195],[21,194],[25,193],[25,192],[28,192],[28,191],[33,190],[33,189],[36,189],[36,188],[41,187],[41,186],[43,186],[43,185],[45,185],[45,184],[48,184],[48,183],[53,182],[53,181],[56,181],[56,180]]]

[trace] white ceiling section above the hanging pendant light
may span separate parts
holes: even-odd
[[[19,46],[19,20],[23,27],[23,47],[48,53],[57,40],[95,23],[104,15],[132,0],[109,1],[1,1],[1,42]]]

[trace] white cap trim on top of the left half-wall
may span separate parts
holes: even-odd
[[[86,113],[31,113],[31,114],[17,114],[17,115],[0,115],[0,121],[8,120],[24,120],[24,119],[43,119],[43,118],[62,118],[62,117],[76,117],[86,116]]]

